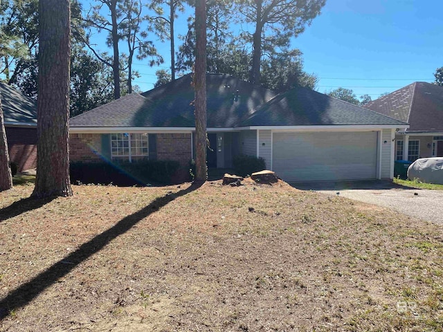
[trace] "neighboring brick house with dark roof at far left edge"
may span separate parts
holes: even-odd
[[[18,172],[37,167],[37,104],[0,82],[1,106],[11,163]]]

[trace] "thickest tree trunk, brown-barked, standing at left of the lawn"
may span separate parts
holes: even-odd
[[[72,196],[69,182],[69,0],[39,1],[37,178],[33,196]]]

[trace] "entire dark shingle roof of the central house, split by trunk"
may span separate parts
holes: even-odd
[[[71,118],[70,127],[195,127],[194,87],[185,75]],[[229,75],[208,74],[208,128],[405,123],[309,89],[273,91]],[[258,110],[258,111],[256,111]]]

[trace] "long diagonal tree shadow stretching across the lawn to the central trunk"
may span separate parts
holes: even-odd
[[[179,192],[167,194],[155,199],[150,205],[147,205],[134,214],[125,216],[125,218],[118,221],[118,223],[109,228],[109,230],[98,234],[91,239],[91,241],[83,243],[78,250],[60,259],[60,261],[57,261],[57,263],[53,264],[47,270],[44,270],[44,272],[29,282],[26,282],[26,284],[22,284],[14,291],[11,291],[6,297],[0,300],[0,321],[15,309],[26,306],[26,304],[37,297],[39,293],[42,293],[46,288],[57,282],[57,279],[67,275],[73,268],[78,266],[78,264],[102,250],[108,243],[130,230],[136,223],[163,208],[168,203],[174,201],[174,199],[189,194],[199,187],[201,187],[201,184],[192,184],[185,190],[180,190]]]

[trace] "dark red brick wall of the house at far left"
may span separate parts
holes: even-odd
[[[37,167],[37,127],[6,127],[6,139],[11,163],[17,171]]]

